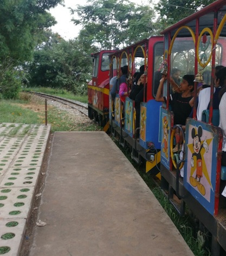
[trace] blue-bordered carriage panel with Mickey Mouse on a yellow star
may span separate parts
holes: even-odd
[[[210,214],[218,207],[221,163],[218,127],[188,119],[185,133],[184,186]]]

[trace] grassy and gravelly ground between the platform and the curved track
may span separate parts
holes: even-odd
[[[64,95],[64,97],[66,97]],[[33,97],[22,92],[20,99],[15,101],[0,101],[0,123],[45,124],[44,100],[33,102]],[[74,98],[78,101],[78,98]],[[87,101],[87,96],[86,96]],[[35,109],[34,109],[35,106]],[[101,130],[94,122],[76,123],[72,114],[59,110],[51,105],[47,106],[47,123],[51,124],[51,132],[93,131]],[[16,132],[14,129],[14,132]],[[13,130],[12,130],[13,132]],[[23,131],[25,133],[25,131]],[[13,136],[13,134],[12,134]]]

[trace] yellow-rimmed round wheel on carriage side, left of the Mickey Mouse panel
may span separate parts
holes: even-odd
[[[183,144],[180,145],[180,136],[183,138]],[[175,142],[176,141],[176,142]],[[173,166],[177,168],[177,163],[180,160],[179,155],[180,152],[183,152],[183,159],[184,159],[184,131],[181,126],[173,127],[171,138],[170,138],[170,154]],[[184,166],[184,162],[182,162],[179,166],[179,170]]]

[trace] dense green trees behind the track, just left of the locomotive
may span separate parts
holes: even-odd
[[[49,34],[49,40],[36,48],[33,61],[24,68],[30,74],[31,86],[87,94],[86,84],[91,79],[92,59],[85,53],[78,39],[66,41],[58,34]],[[78,90],[79,84],[85,84],[85,88],[83,86]]]

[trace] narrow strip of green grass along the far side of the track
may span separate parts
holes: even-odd
[[[35,92],[46,93],[49,95],[59,96],[62,98],[73,99],[74,101],[80,101],[82,103],[88,102],[87,95],[74,95],[72,92],[69,92],[63,89],[35,87],[35,88],[25,88],[24,91],[35,91]]]

